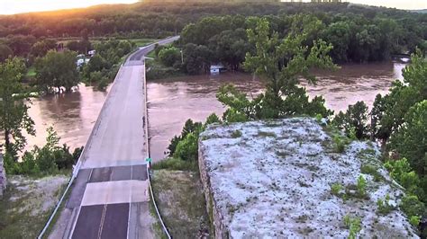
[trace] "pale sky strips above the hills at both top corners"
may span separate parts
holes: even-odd
[[[306,0],[304,0],[305,2]],[[427,9],[427,0],[344,0],[355,4],[370,4],[400,9]],[[132,4],[137,0],[0,0],[0,14],[40,12],[95,4]]]

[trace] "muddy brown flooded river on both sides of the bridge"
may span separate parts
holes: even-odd
[[[395,79],[402,79],[403,68],[404,64],[399,63],[345,65],[332,73],[316,72],[316,85],[302,84],[310,96],[323,95],[330,109],[343,111],[358,101],[372,105],[377,93],[386,93]],[[202,121],[212,112],[222,115],[224,108],[215,94],[222,84],[228,83],[249,95],[256,95],[263,88],[251,75],[232,73],[148,82],[150,150],[155,161],[164,157],[170,138],[181,132],[187,119]],[[61,143],[71,148],[84,146],[106,95],[81,84],[74,93],[32,99],[30,115],[37,136],[28,137],[27,148],[42,146],[50,125],[58,132]]]

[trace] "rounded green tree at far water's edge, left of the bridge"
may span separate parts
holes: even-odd
[[[79,75],[76,66],[76,52],[57,52],[50,50],[43,58],[38,58],[35,63],[37,84],[46,92],[52,88],[61,92],[64,87],[69,92],[73,86],[79,83]]]

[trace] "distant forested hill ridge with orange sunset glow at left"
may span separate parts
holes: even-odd
[[[337,1],[335,1],[337,2]],[[362,15],[368,20],[378,16],[393,18],[404,30],[424,30],[425,14],[386,8],[365,8],[344,4],[293,4],[275,2],[188,2],[168,4],[151,1],[131,5],[97,6],[80,10],[65,10],[50,13],[26,13],[0,17],[0,37],[9,35],[41,37],[80,37],[83,33],[94,36],[119,37],[164,37],[180,32],[188,23],[197,22],[205,16],[241,14],[287,15],[313,13],[324,22],[335,15],[348,13]],[[336,21],[334,21],[336,22]]]

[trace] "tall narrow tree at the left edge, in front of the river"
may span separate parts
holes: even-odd
[[[5,134],[5,150],[11,155],[25,146],[22,130],[30,135],[35,133],[21,84],[24,73],[22,59],[9,58],[0,64],[0,127]]]

